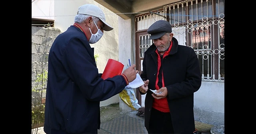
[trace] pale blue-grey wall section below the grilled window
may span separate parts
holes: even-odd
[[[202,81],[194,93],[196,121],[212,125],[224,125],[224,82]]]

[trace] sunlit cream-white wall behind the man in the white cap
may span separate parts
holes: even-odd
[[[91,47],[94,47],[94,54],[99,56],[97,58],[99,73],[103,73],[108,59],[118,60],[118,15],[94,0],[35,0],[32,3],[32,18],[54,20],[54,27],[64,32],[74,24],[74,17],[78,8],[84,4],[99,6],[105,14],[106,22],[114,28],[112,31],[104,31],[100,41],[91,45]],[[108,100],[100,102],[100,106],[119,102],[119,98],[119,95],[115,95]]]

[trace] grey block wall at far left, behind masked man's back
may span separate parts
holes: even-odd
[[[32,26],[32,105],[45,98],[48,54],[54,39],[61,33],[57,28]],[[43,76],[43,77],[42,77]],[[43,86],[42,86],[43,85]],[[43,89],[43,90],[42,90]]]

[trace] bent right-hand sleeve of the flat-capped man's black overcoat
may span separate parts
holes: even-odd
[[[190,48],[186,64],[186,77],[181,83],[166,86],[168,99],[178,99],[192,95],[198,91],[202,82],[198,58],[193,49]]]

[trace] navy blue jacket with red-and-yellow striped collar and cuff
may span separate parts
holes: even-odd
[[[100,129],[100,101],[126,87],[121,75],[106,80],[101,75],[84,32],[70,26],[56,37],[48,57],[46,134],[52,130],[74,134]]]

